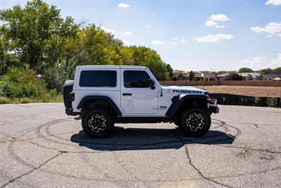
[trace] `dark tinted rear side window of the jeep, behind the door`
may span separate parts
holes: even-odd
[[[82,70],[79,79],[80,87],[116,87],[115,70]]]

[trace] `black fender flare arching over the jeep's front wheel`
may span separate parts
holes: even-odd
[[[207,95],[196,95],[196,94],[180,94],[173,101],[168,111],[166,111],[166,116],[174,116],[178,108],[186,99],[207,99]]]

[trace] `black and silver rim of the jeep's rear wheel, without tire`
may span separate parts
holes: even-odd
[[[105,116],[101,113],[93,113],[89,116],[88,127],[94,133],[103,132],[107,127]]]

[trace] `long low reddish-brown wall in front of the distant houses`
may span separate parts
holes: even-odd
[[[281,81],[160,81],[164,85],[183,85],[183,86],[196,86],[196,85],[237,85],[237,86],[269,86],[281,87]]]

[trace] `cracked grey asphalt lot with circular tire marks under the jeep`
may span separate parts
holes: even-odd
[[[157,123],[91,139],[63,104],[0,105],[0,187],[281,187],[281,109],[211,117],[200,138]]]

